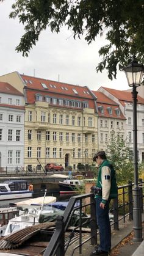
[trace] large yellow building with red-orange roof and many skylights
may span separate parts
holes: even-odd
[[[96,97],[74,86],[13,72],[0,77],[25,97],[24,167],[92,163],[98,150]]]

